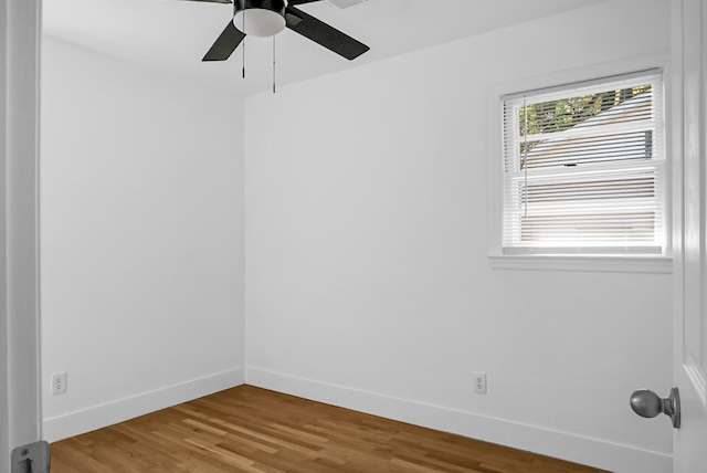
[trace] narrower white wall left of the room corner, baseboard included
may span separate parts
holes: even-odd
[[[44,437],[242,383],[242,101],[45,38],[41,125]]]

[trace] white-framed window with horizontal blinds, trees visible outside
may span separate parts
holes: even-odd
[[[503,97],[505,254],[665,250],[659,71]]]

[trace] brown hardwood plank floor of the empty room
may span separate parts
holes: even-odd
[[[601,470],[250,386],[62,440],[52,473]]]

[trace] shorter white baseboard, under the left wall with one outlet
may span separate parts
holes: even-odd
[[[93,406],[80,411],[44,419],[43,439],[55,442],[118,422],[145,416],[171,406],[233,388],[244,382],[243,368],[192,379],[155,391]]]

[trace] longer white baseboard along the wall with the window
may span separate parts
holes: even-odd
[[[671,455],[473,412],[246,368],[245,383],[620,473],[665,473]]]

